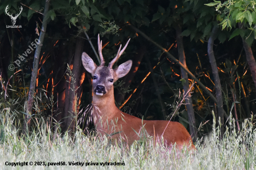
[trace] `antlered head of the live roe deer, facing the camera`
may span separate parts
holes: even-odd
[[[108,96],[108,93],[113,88],[113,83],[121,77],[124,77],[131,69],[132,60],[119,65],[113,69],[114,63],[119,59],[121,54],[128,46],[130,39],[121,50],[121,46],[115,58],[109,63],[108,67],[104,66],[105,61],[102,56],[102,41],[100,42],[100,35],[98,35],[98,50],[101,59],[101,65],[97,66],[94,61],[88,56],[86,52],[82,53],[82,63],[84,68],[93,76],[93,92],[97,96]],[[113,93],[114,95],[114,93]]]

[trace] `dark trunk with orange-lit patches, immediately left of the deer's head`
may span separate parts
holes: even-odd
[[[84,39],[77,37],[76,46],[74,52],[74,62],[72,65],[72,78],[69,78],[69,82],[66,86],[66,98],[65,98],[65,108],[64,108],[64,119],[63,124],[65,127],[64,131],[69,131],[71,134],[74,131],[75,123],[77,122],[77,114],[80,105],[81,98],[81,84],[85,78],[85,70],[82,69],[81,55],[83,52]]]

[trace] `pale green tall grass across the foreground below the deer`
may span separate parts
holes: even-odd
[[[235,121],[229,121],[223,139],[215,120],[211,135],[199,140],[197,151],[176,150],[162,144],[153,144],[150,137],[125,144],[109,144],[107,138],[85,136],[77,130],[73,137],[50,131],[43,119],[36,119],[37,126],[23,136],[19,125],[6,108],[0,113],[0,169],[135,169],[135,170],[253,170],[256,168],[256,132],[251,120],[245,120],[241,132],[235,131]],[[16,124],[16,125],[15,125]],[[64,161],[67,165],[47,166]],[[83,166],[69,165],[81,162]],[[27,166],[7,166],[9,163],[33,162]],[[34,165],[44,162],[46,166]],[[100,163],[125,163],[125,165],[100,165]],[[89,165],[85,163],[89,163]],[[98,163],[99,165],[90,165]]]

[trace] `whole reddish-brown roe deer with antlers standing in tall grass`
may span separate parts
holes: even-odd
[[[92,112],[94,125],[101,135],[108,134],[112,139],[121,137],[131,145],[135,140],[139,140],[140,131],[143,128],[150,136],[159,140],[163,137],[165,144],[177,144],[181,149],[185,144],[187,147],[191,144],[192,149],[195,145],[186,128],[178,122],[165,120],[141,120],[127,113],[120,111],[115,105],[113,83],[125,76],[132,66],[132,60],[119,65],[112,69],[116,60],[121,56],[127,47],[130,39],[121,50],[121,46],[116,57],[109,63],[108,67],[104,66],[105,61],[102,56],[102,41],[98,35],[98,50],[101,59],[101,65],[97,66],[86,52],[82,53],[82,63],[85,69],[93,76],[93,105]],[[96,106],[96,107],[95,107]],[[143,125],[142,125],[143,123]],[[136,132],[137,133],[136,133]]]

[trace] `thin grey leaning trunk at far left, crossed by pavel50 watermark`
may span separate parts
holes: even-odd
[[[39,36],[40,44],[37,45],[35,53],[34,53],[33,71],[32,71],[32,74],[31,74],[31,82],[30,82],[30,87],[29,87],[29,92],[28,92],[28,99],[27,99],[27,113],[28,114],[32,113],[32,106],[33,106],[33,103],[34,103],[35,83],[36,83],[36,77],[37,77],[37,72],[38,72],[38,63],[39,63],[40,52],[41,52],[41,48],[42,48],[42,44],[43,44],[44,36],[45,36],[45,32],[46,32],[46,27],[47,27],[47,20],[45,19],[45,16],[46,16],[46,13],[48,12],[48,9],[49,9],[49,5],[50,5],[49,1],[50,0],[46,0],[46,2],[45,2],[42,29],[41,29],[40,36]],[[27,126],[30,125],[30,119],[31,119],[31,117],[29,117],[27,115],[25,116],[24,131],[26,131]]]

